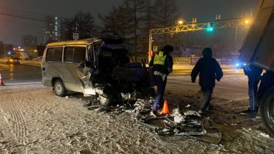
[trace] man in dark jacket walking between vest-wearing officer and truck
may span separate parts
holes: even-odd
[[[203,103],[199,110],[200,114],[210,110],[210,99],[215,86],[215,79],[220,81],[223,77],[221,66],[212,57],[212,50],[206,47],[203,49],[202,54],[203,57],[198,60],[191,73],[192,83],[195,83],[196,77],[199,74],[199,85],[203,91]]]

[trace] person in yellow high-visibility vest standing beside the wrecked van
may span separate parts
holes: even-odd
[[[166,88],[166,77],[173,70],[173,58],[170,53],[173,52],[173,46],[165,45],[162,51],[151,57],[149,66],[152,67],[153,79],[157,86],[157,94],[154,99],[152,113],[158,116],[158,109],[163,106],[162,98]]]

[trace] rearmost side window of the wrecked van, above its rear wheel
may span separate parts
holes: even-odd
[[[62,62],[62,47],[47,49],[46,62]]]

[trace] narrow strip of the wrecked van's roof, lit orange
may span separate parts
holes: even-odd
[[[88,38],[85,40],[67,40],[67,41],[60,41],[60,42],[51,42],[47,44],[47,47],[54,47],[54,46],[62,46],[62,45],[88,45],[92,44],[93,42],[99,42],[101,39],[99,38]]]

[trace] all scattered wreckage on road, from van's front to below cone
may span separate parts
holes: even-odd
[[[173,110],[172,114],[156,117],[151,115],[153,101],[153,98],[150,97],[149,99],[137,99],[135,103],[125,102],[116,106],[103,107],[97,99],[94,99],[93,102],[84,102],[84,106],[97,113],[132,113],[140,125],[149,127],[160,136],[187,136],[214,144],[221,142],[221,131],[212,126],[212,120],[189,110],[190,105],[186,105],[186,111],[182,112],[177,103],[177,108]]]

